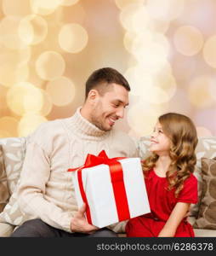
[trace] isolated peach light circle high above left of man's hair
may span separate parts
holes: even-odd
[[[60,29],[60,48],[70,53],[77,53],[84,49],[88,43],[88,33],[79,24],[65,24]]]

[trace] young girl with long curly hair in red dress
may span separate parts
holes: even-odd
[[[196,128],[183,114],[159,117],[151,136],[151,156],[143,161],[151,213],[131,218],[127,236],[194,236],[185,216],[197,202]]]

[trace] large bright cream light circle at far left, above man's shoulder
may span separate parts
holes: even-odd
[[[43,108],[43,96],[37,87],[23,82],[15,84],[8,90],[7,105],[18,115],[39,113]]]

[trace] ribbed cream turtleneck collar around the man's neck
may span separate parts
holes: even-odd
[[[77,108],[76,113],[71,117],[71,129],[72,132],[75,132],[78,136],[84,138],[91,138],[92,139],[103,139],[104,137],[108,136],[110,131],[102,131],[92,123],[82,117],[80,113],[82,107]],[[71,126],[70,125],[70,126]]]

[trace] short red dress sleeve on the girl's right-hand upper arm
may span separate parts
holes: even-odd
[[[186,202],[196,204],[198,201],[198,184],[197,179],[193,174],[190,174],[185,180],[184,188],[180,191],[178,202]]]

